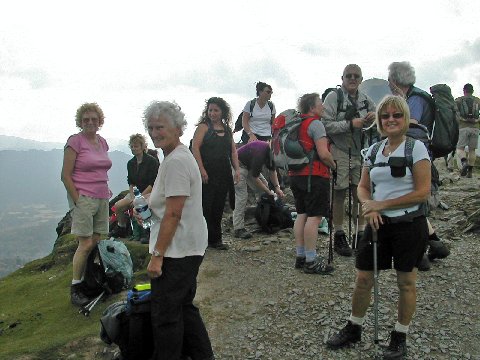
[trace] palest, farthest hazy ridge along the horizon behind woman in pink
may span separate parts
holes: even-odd
[[[67,139],[65,139],[66,141]],[[121,151],[131,154],[128,140],[123,139],[107,139],[110,151]],[[0,135],[0,151],[1,150],[54,150],[63,149],[65,143],[42,142],[30,139],[23,139],[17,136]]]

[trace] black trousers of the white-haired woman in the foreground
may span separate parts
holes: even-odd
[[[153,359],[213,359],[200,312],[192,304],[203,256],[164,258],[162,275],[151,280]]]

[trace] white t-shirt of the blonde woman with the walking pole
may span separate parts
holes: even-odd
[[[382,140],[382,144],[380,145],[377,156],[375,158],[375,164],[388,163],[388,159],[390,157],[405,157],[405,141],[401,143],[400,146],[396,148],[395,151],[392,152],[392,154],[390,154],[390,156],[383,155],[383,150],[385,149],[386,142],[386,139]],[[365,166],[371,165],[369,157],[372,153],[373,146],[374,145],[370,146],[367,151],[367,155],[365,158]],[[427,159],[430,161],[427,148],[419,140],[415,140],[412,157],[413,164],[423,159]],[[372,196],[373,200],[382,201],[387,199],[396,199],[414,190],[413,176],[408,166],[406,166],[405,176],[403,177],[393,177],[391,174],[390,166],[374,167],[370,171],[370,180],[372,182],[371,187],[374,189]],[[403,209],[383,210],[381,211],[381,214],[389,217],[397,217],[418,210],[419,207],[420,204]]]

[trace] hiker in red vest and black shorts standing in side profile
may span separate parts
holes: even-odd
[[[328,149],[325,127],[320,121],[323,112],[320,95],[312,93],[300,97],[298,111],[305,117],[299,129],[300,143],[306,152],[315,147],[317,156],[304,168],[288,172],[297,210],[293,227],[297,251],[295,268],[303,268],[308,274],[328,274],[333,271],[333,266],[317,257],[316,242],[322,216],[327,216],[330,208],[330,169],[335,169],[336,165]]]

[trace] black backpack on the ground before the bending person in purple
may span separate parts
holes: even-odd
[[[255,209],[255,219],[263,232],[273,234],[293,227],[292,210],[273,195],[262,194]]]

